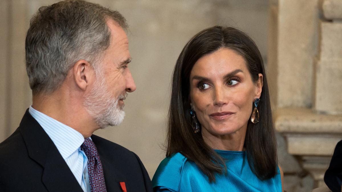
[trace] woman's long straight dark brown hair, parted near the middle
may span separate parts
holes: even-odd
[[[259,122],[248,123],[244,146],[253,173],[261,180],[272,178],[277,172],[277,152],[263,59],[254,41],[233,27],[214,26],[197,33],[179,55],[172,77],[166,156],[182,153],[196,163],[210,182],[215,181],[215,173],[225,173],[220,155],[204,142],[201,132],[194,133],[189,114],[190,72],[199,58],[221,48],[234,50],[245,58],[254,82],[259,73],[263,74]]]

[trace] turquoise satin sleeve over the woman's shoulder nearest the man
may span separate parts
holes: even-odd
[[[162,160],[152,179],[153,188],[169,189],[170,191],[178,191],[184,174],[184,167],[195,166],[195,163],[181,153],[174,153]],[[155,190],[156,191],[156,190]]]

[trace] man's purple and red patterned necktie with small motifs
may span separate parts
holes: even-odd
[[[81,145],[81,149],[84,151],[88,158],[88,175],[91,191],[107,191],[105,178],[103,176],[102,164],[93,141],[89,138],[84,139],[84,142]]]

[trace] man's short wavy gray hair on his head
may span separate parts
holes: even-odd
[[[52,93],[61,86],[77,60],[95,63],[110,44],[107,19],[127,30],[118,12],[83,0],[42,6],[26,34],[26,70],[32,94]]]

